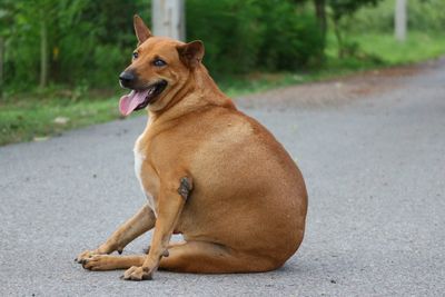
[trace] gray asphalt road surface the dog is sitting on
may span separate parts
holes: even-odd
[[[283,268],[129,283],[75,264],[145,202],[144,116],[0,148],[0,296],[444,296],[445,62],[339,105],[279,105],[241,101],[308,187],[306,237]]]

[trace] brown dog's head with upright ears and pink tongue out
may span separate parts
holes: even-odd
[[[164,109],[190,73],[200,67],[204,57],[201,41],[184,43],[154,37],[138,16],[134,24],[139,43],[132,52],[131,65],[119,76],[120,86],[131,90],[120,98],[119,109],[123,116],[146,107],[152,111]]]

